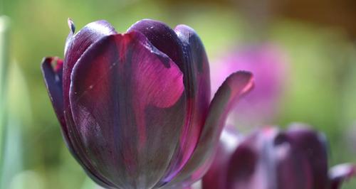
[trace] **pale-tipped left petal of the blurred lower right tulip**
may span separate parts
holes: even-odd
[[[201,183],[202,188],[216,189],[226,187],[230,158],[236,150],[239,140],[240,136],[233,128],[226,128],[222,131],[219,148],[216,151],[214,161],[211,163],[209,171],[204,175]],[[248,163],[249,159],[244,162]]]

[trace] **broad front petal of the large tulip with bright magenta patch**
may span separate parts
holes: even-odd
[[[152,188],[164,176],[184,125],[183,75],[145,36],[117,34],[90,47],[73,69],[70,106],[80,158],[101,177]]]

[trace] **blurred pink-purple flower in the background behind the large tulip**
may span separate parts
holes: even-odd
[[[211,64],[211,89],[215,92],[234,70],[253,73],[256,86],[236,107],[231,117],[241,126],[269,123],[278,114],[278,102],[286,81],[287,56],[271,44],[238,48]]]

